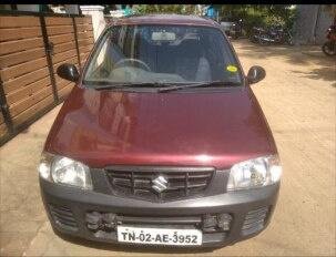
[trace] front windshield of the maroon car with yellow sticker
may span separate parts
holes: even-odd
[[[84,84],[240,84],[238,64],[218,29],[118,25],[94,51]]]

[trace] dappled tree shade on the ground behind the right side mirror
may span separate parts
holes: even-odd
[[[241,43],[244,44],[241,45]],[[319,45],[258,45],[244,39],[236,41],[236,48],[240,50],[240,56],[246,58],[284,58],[286,62],[295,65],[317,65],[320,68],[312,69],[308,72],[293,70],[303,76],[313,80],[325,80],[332,82],[332,86],[336,88],[336,56],[326,56]]]

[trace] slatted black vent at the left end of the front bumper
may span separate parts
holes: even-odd
[[[64,206],[49,205],[51,216],[57,225],[68,230],[77,230],[78,225],[71,209]]]

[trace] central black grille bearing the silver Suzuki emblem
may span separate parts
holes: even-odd
[[[202,195],[213,173],[212,168],[196,168],[196,171],[191,168],[106,169],[114,194],[152,202]]]

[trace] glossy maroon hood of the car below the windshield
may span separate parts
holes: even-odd
[[[190,165],[227,168],[276,153],[250,88],[221,92],[113,92],[74,88],[45,151],[91,167]]]

